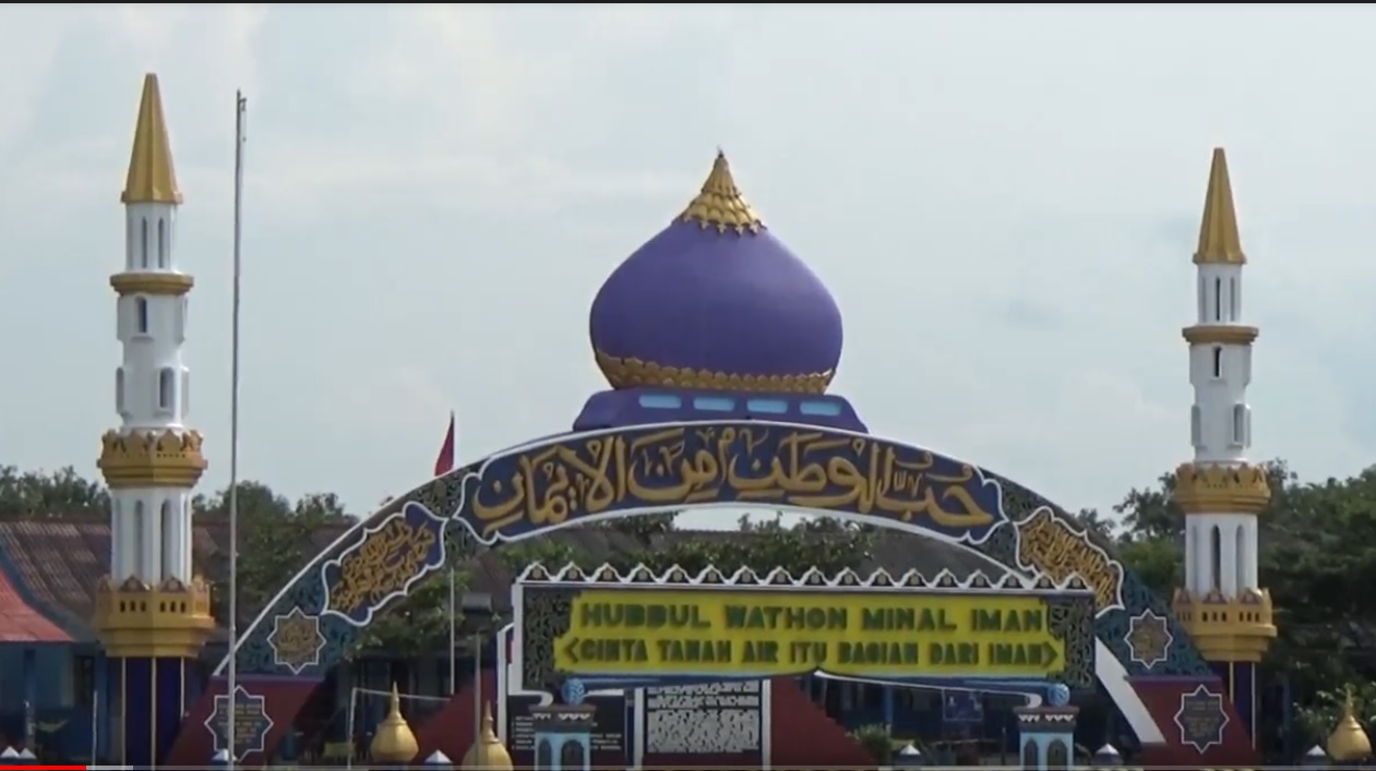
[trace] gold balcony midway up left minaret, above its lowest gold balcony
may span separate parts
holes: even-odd
[[[191,488],[205,473],[195,432],[106,432],[96,466],[111,489]]]

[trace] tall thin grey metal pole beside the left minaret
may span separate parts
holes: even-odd
[[[235,720],[238,712],[235,700],[238,690],[238,647],[239,642],[239,242],[244,234],[244,120],[248,115],[249,100],[242,91],[234,92],[234,316],[230,331],[230,672],[228,690],[230,715],[227,717],[224,744],[230,750],[230,768],[238,761],[235,746]]]

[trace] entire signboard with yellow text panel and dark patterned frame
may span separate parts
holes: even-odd
[[[522,596],[527,669],[549,669],[537,683],[1093,678],[1088,591],[552,581]]]

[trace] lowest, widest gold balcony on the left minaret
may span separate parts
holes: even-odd
[[[116,584],[100,579],[95,592],[96,635],[118,658],[195,658],[215,629],[211,585],[175,577],[150,587],[133,576]]]

